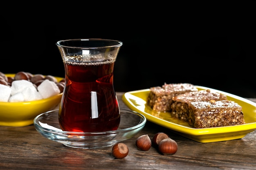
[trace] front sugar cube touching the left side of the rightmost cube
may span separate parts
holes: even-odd
[[[22,90],[24,101],[41,100],[43,96],[37,91],[35,86],[26,87]]]

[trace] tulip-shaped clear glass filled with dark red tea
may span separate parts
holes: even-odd
[[[63,131],[117,130],[120,110],[113,69],[121,41],[68,39],[56,43],[65,68],[65,87],[58,113]]]

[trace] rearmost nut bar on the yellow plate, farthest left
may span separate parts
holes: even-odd
[[[150,88],[147,103],[154,111],[170,111],[173,96],[193,91],[198,89],[190,83],[164,83],[162,87]]]

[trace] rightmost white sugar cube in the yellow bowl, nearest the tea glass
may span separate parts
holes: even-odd
[[[48,79],[44,80],[40,85],[38,85],[37,89],[43,98],[49,98],[61,93],[56,83],[49,81]]]

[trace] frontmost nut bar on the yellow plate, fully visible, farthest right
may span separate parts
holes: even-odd
[[[211,128],[245,124],[242,107],[230,100],[190,102],[189,124],[194,128]]]

